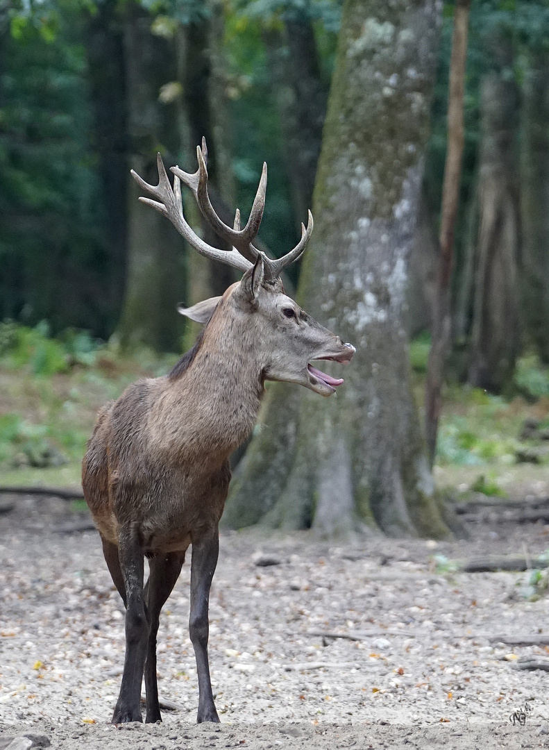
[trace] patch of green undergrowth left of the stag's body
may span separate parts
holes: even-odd
[[[98,410],[134,380],[165,374],[176,359],[149,350],[125,356],[82,331],[51,338],[45,323],[0,323],[2,483],[80,484]]]

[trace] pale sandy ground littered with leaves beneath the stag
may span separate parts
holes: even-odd
[[[159,633],[163,724],[108,724],[124,655],[123,607],[94,531],[68,503],[18,499],[0,515],[0,748],[43,734],[68,748],[549,747],[546,673],[514,669],[496,634],[547,631],[549,598],[525,574],[440,574],[432,557],[539,553],[549,526],[483,526],[469,541],[223,534],[210,664],[222,725],[197,727],[188,564]],[[278,564],[259,566],[266,557]],[[263,558],[263,560],[262,560]],[[353,634],[359,640],[323,633]],[[320,634],[319,634],[320,633]],[[529,706],[526,726],[509,716]]]

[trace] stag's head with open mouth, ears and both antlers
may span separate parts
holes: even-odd
[[[189,245],[205,257],[227,263],[244,271],[241,281],[233,284],[222,297],[213,297],[193,305],[179,307],[178,311],[191,320],[208,323],[212,317],[229,315],[236,329],[242,332],[242,344],[254,351],[259,362],[263,380],[281,380],[298,383],[323,396],[332,395],[344,381],[317,370],[311,361],[329,359],[347,363],[355,353],[351,344],[317,323],[299,305],[284,293],[281,272],[298,260],[305,251],[313,231],[313,217],[309,211],[307,228],[302,224],[302,237],[290,253],[272,260],[254,247],[254,239],[260,229],[265,207],[267,187],[267,165],[263,164],[260,185],[252,205],[248,223],[241,229],[240,212],[237,209],[233,228],[224,223],[214,211],[208,196],[208,151],[205,139],[202,148],[196,148],[198,169],[193,174],[183,172],[178,166],[171,171],[173,187],[169,182],[160,154],[157,154],[159,182],[156,186],[146,183],[133,172],[137,184],[154,200],[139,198],[169,218]],[[181,181],[190,187],[199,209],[215,233],[232,245],[232,250],[220,250],[207,245],[183,215]]]

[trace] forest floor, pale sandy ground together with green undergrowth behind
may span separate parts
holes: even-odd
[[[65,356],[54,350],[48,359],[49,341],[38,342],[40,356],[33,344],[23,365],[14,356],[0,365],[1,485],[78,487],[98,408],[175,360],[120,359],[107,349],[70,368],[61,359],[65,371],[45,374],[54,355]],[[420,403],[419,354],[412,350]],[[520,368],[520,387],[538,389],[536,398],[447,389],[434,474],[453,499],[470,499],[472,490],[502,503],[549,496],[549,441],[541,438],[549,371]],[[532,419],[537,433],[520,440]],[[535,463],[517,461],[525,446]],[[162,725],[117,730],[108,722],[124,658],[123,607],[83,502],[4,494],[0,750],[23,733],[67,750],[549,747],[544,673],[515,668],[527,655],[547,658],[547,649],[505,643],[546,630],[549,598],[541,592],[532,601],[535,572],[470,574],[452,562],[511,552],[530,559],[549,548],[549,526],[502,522],[488,511],[479,518],[466,541],[372,532],[338,546],[308,532],[223,532],[210,637],[222,724],[193,723],[185,565],[159,634],[160,697],[174,709]],[[258,565],[266,556],[276,564]],[[512,725],[509,717],[526,706],[526,725]]]

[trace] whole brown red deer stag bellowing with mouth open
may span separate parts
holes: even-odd
[[[329,396],[343,380],[309,363],[349,362],[355,351],[284,294],[280,275],[305,250],[313,229],[311,212],[296,248],[269,260],[252,244],[265,205],[266,165],[248,223],[240,229],[237,211],[231,229],[208,197],[204,140],[196,151],[199,168],[187,174],[172,167],[173,187],[160,154],[156,187],[132,172],[154,197],[140,200],[169,218],[196,251],[244,275],[223,296],[179,309],[206,324],[196,344],[169,375],[133,383],[101,410],[83,461],[86,501],[126,607],[124,672],[114,723],[142,721],[143,670],[145,720],[160,721],[158,620],[190,544],[189,634],[198,673],[197,721],[219,721],[208,667],[208,598],[217,564],[217,526],[231,476],[229,455],[254,425],[266,380],[299,383]],[[180,181],[190,187],[203,216],[232,250],[206,245],[193,233],[183,216]],[[145,556],[149,576],[143,586]]]

